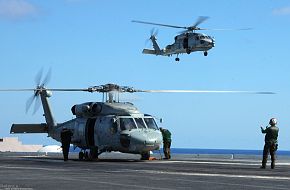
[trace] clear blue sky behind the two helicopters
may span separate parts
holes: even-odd
[[[216,47],[175,57],[143,55],[150,48],[144,20],[187,26],[209,16],[205,31]],[[289,150],[290,97],[288,0],[97,1],[0,0],[0,88],[32,88],[36,73],[52,68],[51,88],[86,88],[116,83],[137,89],[254,90],[249,94],[134,94],[126,99],[144,113],[163,118],[173,147],[262,149],[260,125],[278,119],[279,147]],[[176,29],[156,27],[161,47],[173,43]],[[0,94],[0,136],[12,123],[44,122],[42,109],[25,113],[32,93]],[[71,119],[76,103],[101,95],[55,92],[50,98],[58,122]],[[23,143],[55,144],[46,135],[19,135]]]

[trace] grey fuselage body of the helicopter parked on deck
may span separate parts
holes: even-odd
[[[93,108],[98,107],[98,110]],[[72,107],[75,119],[58,124],[49,135],[61,141],[64,128],[72,131],[72,144],[83,150],[143,154],[160,148],[162,135],[154,118],[131,103],[88,102]]]

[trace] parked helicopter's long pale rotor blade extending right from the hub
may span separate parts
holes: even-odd
[[[149,93],[245,93],[245,94],[275,94],[274,92],[233,91],[233,90],[138,90]]]

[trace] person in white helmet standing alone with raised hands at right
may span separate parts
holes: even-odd
[[[275,168],[275,160],[276,160],[276,151],[278,149],[278,133],[279,133],[279,128],[276,126],[277,125],[277,119],[272,118],[269,121],[270,127],[266,127],[266,129],[263,129],[261,127],[262,133],[266,133],[265,135],[265,145],[264,145],[264,150],[263,150],[263,160],[262,160],[262,169],[266,168],[267,164],[267,158],[268,154],[270,152],[271,155],[271,168]]]

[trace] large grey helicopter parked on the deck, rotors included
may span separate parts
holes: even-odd
[[[140,154],[142,160],[148,160],[150,151],[160,149],[162,134],[155,117],[142,113],[130,102],[121,102],[120,93],[273,94],[272,92],[253,91],[138,90],[111,83],[88,88],[46,88],[45,85],[50,77],[46,76],[41,83],[39,76],[36,77],[36,88],[0,89],[2,92],[32,91],[33,96],[26,102],[26,112],[34,102],[35,113],[38,101],[41,101],[44,111],[45,123],[12,124],[10,133],[47,133],[48,137],[61,142],[61,132],[64,129],[70,130],[72,133],[71,144],[81,149],[79,160],[95,160],[103,152],[111,151]],[[71,107],[75,118],[57,123],[48,100],[55,91],[98,92],[103,94],[103,101],[75,104]]]

